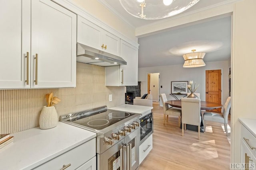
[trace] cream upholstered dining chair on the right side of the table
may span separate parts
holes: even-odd
[[[224,129],[226,131],[226,136],[228,136],[228,113],[231,107],[231,97],[229,96],[225,102],[223,113],[212,113],[212,112],[204,112],[203,120],[204,120],[204,131],[206,127],[206,121],[214,121],[218,123],[224,123]]]

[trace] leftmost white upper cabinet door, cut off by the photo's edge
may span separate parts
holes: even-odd
[[[29,88],[30,0],[1,0],[0,23],[0,88]]]

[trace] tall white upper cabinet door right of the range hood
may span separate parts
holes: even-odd
[[[127,65],[120,66],[120,84],[123,86],[138,85],[138,49],[121,40],[120,57]]]

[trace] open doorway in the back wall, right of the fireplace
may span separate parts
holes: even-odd
[[[160,93],[160,73],[148,73],[147,74],[147,92],[152,95],[153,102],[159,102]]]

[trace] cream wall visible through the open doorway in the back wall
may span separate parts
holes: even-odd
[[[159,100],[159,73],[150,73],[150,94],[153,96],[153,101],[158,102]],[[147,86],[146,86],[147,88]],[[147,89],[146,89],[147,90]]]

